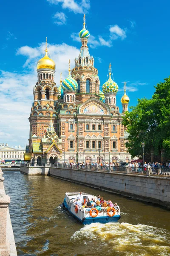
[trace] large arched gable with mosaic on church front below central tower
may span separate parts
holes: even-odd
[[[79,113],[86,115],[109,115],[110,111],[104,102],[96,98],[91,98],[79,106]]]

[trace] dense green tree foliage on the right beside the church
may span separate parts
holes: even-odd
[[[125,113],[123,123],[130,134],[127,148],[133,157],[142,157],[143,141],[146,154],[154,150],[158,155],[164,148],[165,156],[170,157],[170,77],[155,89],[151,99],[138,99],[136,107]]]

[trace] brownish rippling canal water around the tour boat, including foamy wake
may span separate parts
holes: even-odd
[[[18,256],[170,256],[170,211],[47,176],[4,171]],[[118,203],[119,223],[83,226],[61,203],[67,191]]]

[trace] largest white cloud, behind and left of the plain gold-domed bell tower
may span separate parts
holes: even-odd
[[[33,88],[37,82],[36,64],[42,57],[44,49],[45,43],[35,48],[20,47],[17,55],[20,54],[27,58],[23,72],[12,73],[0,70],[0,138],[2,143],[23,146],[28,144],[28,117],[34,100]],[[79,55],[79,49],[64,43],[48,44],[48,49],[51,58],[56,63],[55,82],[59,86],[60,72],[62,72],[62,79],[68,76],[68,59],[71,60],[71,67],[74,67],[74,58]]]

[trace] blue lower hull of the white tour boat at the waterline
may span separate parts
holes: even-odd
[[[62,203],[63,207],[65,209],[67,209],[71,215],[73,215],[78,221],[80,221],[82,224],[86,225],[86,224],[91,224],[91,223],[96,223],[96,222],[99,222],[99,223],[108,223],[108,222],[117,222],[121,216],[120,215],[114,215],[113,217],[109,217],[109,216],[97,216],[97,217],[85,217],[85,218],[82,218],[80,219],[74,212],[71,211],[71,208],[68,207],[65,199]]]

